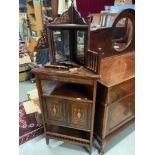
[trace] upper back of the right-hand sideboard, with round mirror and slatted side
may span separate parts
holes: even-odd
[[[108,16],[108,13],[106,14]],[[135,11],[133,9],[125,9],[117,13],[108,26],[95,29],[90,26],[86,54],[86,68],[89,70],[100,74],[102,61],[105,58],[134,51]]]

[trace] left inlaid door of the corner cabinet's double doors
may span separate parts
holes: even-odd
[[[48,123],[66,124],[65,100],[55,98],[45,98],[44,104],[45,118]]]

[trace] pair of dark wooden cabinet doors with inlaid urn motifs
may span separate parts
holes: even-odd
[[[73,128],[91,129],[91,104],[59,98],[44,98],[45,120],[55,125],[68,125]]]

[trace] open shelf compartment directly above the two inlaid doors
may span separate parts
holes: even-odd
[[[43,96],[92,103],[93,101],[91,93],[86,93],[85,91],[88,87],[91,91],[90,86],[85,86],[82,84],[53,82],[53,81],[48,82],[48,84],[45,84],[44,82]]]

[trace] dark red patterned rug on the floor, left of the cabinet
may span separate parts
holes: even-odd
[[[19,144],[23,144],[43,132],[43,126],[37,123],[35,113],[26,114],[23,102],[19,103]]]

